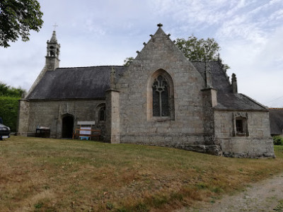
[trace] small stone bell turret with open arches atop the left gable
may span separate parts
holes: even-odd
[[[54,30],[51,39],[47,40],[47,54],[45,56],[47,71],[54,71],[59,68],[59,53],[60,45],[57,42],[56,32]]]

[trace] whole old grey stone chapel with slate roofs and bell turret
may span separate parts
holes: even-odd
[[[70,138],[95,121],[103,141],[227,157],[275,157],[267,107],[237,92],[221,60],[191,62],[158,24],[129,66],[59,67],[55,31],[45,66],[19,102],[18,135],[37,126]]]

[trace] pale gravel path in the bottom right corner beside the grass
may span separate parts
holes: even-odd
[[[251,184],[239,194],[223,196],[213,204],[204,204],[202,208],[183,208],[178,212],[185,211],[283,211],[283,173]]]

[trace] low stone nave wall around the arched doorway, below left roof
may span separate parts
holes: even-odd
[[[62,137],[62,117],[69,114],[74,117],[74,128],[78,121],[96,121],[96,129],[105,133],[105,121],[98,120],[100,105],[105,100],[61,100],[61,101],[36,101],[28,103],[28,115],[20,116],[20,122],[25,122],[18,129],[18,134],[34,136],[37,126],[50,127],[50,137]],[[23,113],[23,112],[21,112]]]

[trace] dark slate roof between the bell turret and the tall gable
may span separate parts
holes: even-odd
[[[110,88],[112,67],[116,71],[116,80],[127,69],[127,66],[91,66],[47,71],[27,99],[105,98],[105,90]]]

